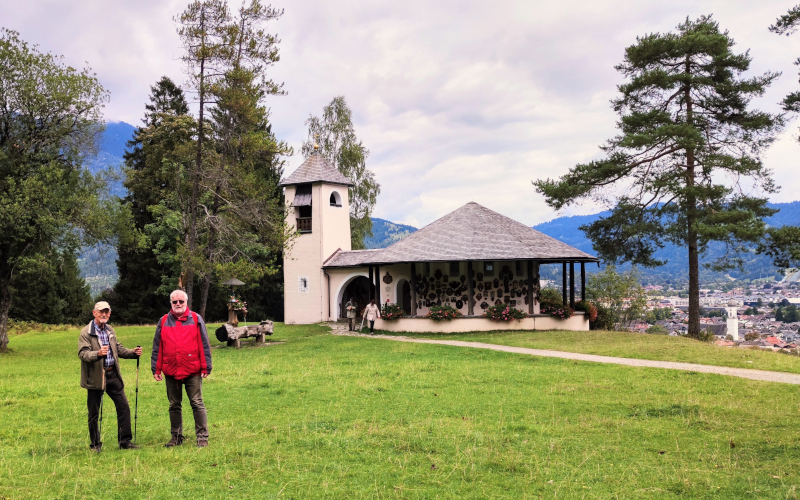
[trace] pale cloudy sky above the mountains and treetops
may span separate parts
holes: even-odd
[[[108,121],[139,125],[150,86],[162,75],[186,81],[173,18],[181,0],[0,0],[0,26],[74,67],[91,67],[110,91]],[[231,1],[231,6],[238,6]],[[422,227],[475,201],[528,225],[598,212],[587,203],[555,212],[531,181],[556,178],[601,157],[616,133],[609,101],[622,83],[614,66],[637,36],[667,32],[713,14],[750,50],[750,75],[783,72],[754,102],[777,103],[800,87],[800,33],[767,28],[794,4],[772,0],[669,2],[383,0],[276,1],[267,28],[281,39],[271,77],[273,131],[294,147],[286,175],[302,161],[305,120],[335,96],[353,112],[381,184],[374,216]],[[800,200],[795,175],[798,122],[764,156],[781,191]]]

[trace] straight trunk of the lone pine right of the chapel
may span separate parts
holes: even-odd
[[[686,75],[691,73],[691,61],[686,57]],[[686,123],[693,125],[692,94],[689,85],[686,96]],[[697,199],[694,194],[694,149],[686,149],[686,243],[689,247],[689,336],[700,337],[700,259],[697,251]]]

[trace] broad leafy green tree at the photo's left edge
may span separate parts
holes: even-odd
[[[0,352],[18,270],[53,249],[91,246],[124,223],[84,166],[102,130],[108,93],[76,70],[0,29]]]

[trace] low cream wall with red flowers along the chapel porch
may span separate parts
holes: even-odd
[[[492,321],[480,316],[455,318],[451,321],[432,321],[428,318],[400,318],[394,321],[378,319],[375,328],[389,332],[410,333],[461,333],[504,330],[573,330],[589,331],[589,319],[576,312],[569,319],[558,319],[546,314],[535,314],[515,321]]]

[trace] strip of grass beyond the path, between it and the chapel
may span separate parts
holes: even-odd
[[[379,333],[414,338],[486,342],[488,344],[513,347],[549,349],[620,358],[680,361],[701,365],[800,373],[800,358],[797,356],[758,348],[721,347],[685,337],[671,337],[668,335],[602,330],[588,332],[552,330],[429,334],[380,331]]]

